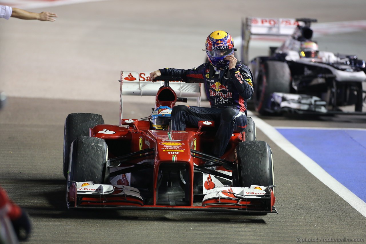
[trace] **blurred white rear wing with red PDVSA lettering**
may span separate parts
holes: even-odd
[[[242,61],[248,64],[248,48],[252,35],[291,36],[299,22],[296,19],[253,18],[242,20]]]

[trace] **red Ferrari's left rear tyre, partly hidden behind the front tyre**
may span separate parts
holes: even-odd
[[[67,170],[70,160],[70,146],[79,136],[89,136],[89,128],[104,124],[102,115],[89,113],[69,114],[65,120],[64,127],[64,158],[63,174],[67,177]]]

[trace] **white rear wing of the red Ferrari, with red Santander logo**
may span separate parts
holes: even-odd
[[[122,119],[122,96],[156,96],[158,89],[164,86],[164,81],[150,81],[150,72],[121,71],[120,119]],[[169,86],[177,97],[193,97],[197,106],[201,105],[201,83],[185,83],[170,81]]]

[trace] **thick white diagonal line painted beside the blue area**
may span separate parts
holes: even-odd
[[[275,128],[264,122],[262,119],[256,117],[251,111],[248,111],[248,116],[253,118],[255,126],[266,134],[270,140],[276,143],[280,148],[287,152],[288,155],[304,166],[311,174],[317,177],[321,182],[332,189],[333,192],[337,193],[347,203],[366,217],[366,203],[363,202],[362,199],[348,190],[344,185],[340,184],[335,178],[322,169],[322,167],[290,143],[290,141],[282,136],[282,134]]]

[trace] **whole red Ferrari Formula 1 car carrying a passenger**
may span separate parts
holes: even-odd
[[[209,155],[214,121],[185,131],[153,129],[150,118],[122,116],[122,96],[156,96],[156,108],[174,107],[195,97],[201,84],[180,77],[121,71],[120,124],[105,125],[101,115],[74,113],[65,121],[63,171],[68,208],[122,208],[277,213],[272,151],[255,140],[248,117],[234,132],[221,158]],[[169,85],[170,82],[170,85]],[[203,165],[214,162],[216,170]],[[212,166],[212,165],[210,165]]]

